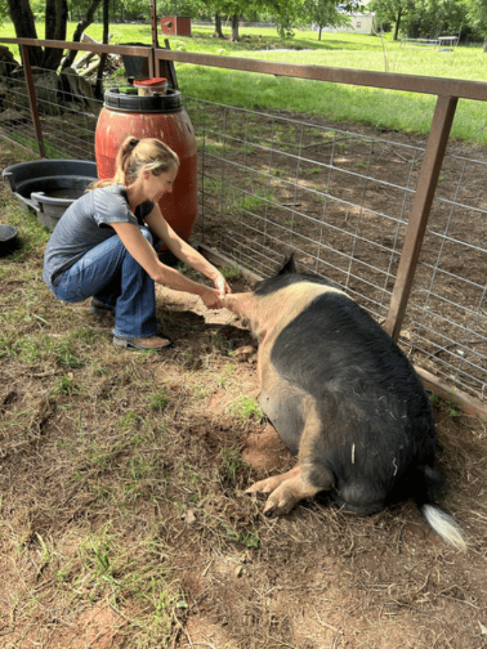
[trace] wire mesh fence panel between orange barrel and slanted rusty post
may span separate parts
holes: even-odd
[[[199,106],[201,237],[263,275],[293,248],[307,270],[385,316],[422,152],[318,121]]]

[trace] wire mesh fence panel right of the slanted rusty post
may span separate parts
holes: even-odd
[[[451,151],[445,158],[407,321],[415,357],[481,398],[487,380],[486,165],[485,152]]]

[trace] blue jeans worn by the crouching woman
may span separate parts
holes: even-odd
[[[141,233],[153,243],[150,231]],[[156,291],[154,280],[129,254],[118,235],[98,244],[61,275],[54,289],[64,302],[82,302],[93,296],[96,301],[115,308],[113,333],[128,338],[145,338],[157,333]]]

